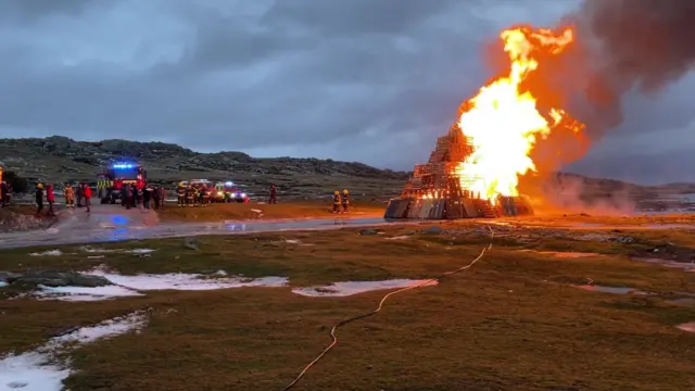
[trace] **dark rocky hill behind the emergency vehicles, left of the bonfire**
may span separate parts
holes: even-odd
[[[270,182],[281,194],[313,198],[351,188],[366,197],[400,192],[408,173],[379,169],[363,163],[319,159],[257,159],[241,152],[200,153],[164,142],[128,140],[76,141],[66,137],[0,139],[0,162],[29,180],[94,181],[114,160],[143,164],[154,181],[206,178],[235,180],[262,193]]]

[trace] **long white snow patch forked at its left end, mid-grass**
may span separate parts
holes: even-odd
[[[215,290],[242,287],[286,287],[288,279],[282,277],[264,277],[257,279],[240,277],[205,278],[201,274],[140,274],[124,276],[103,269],[86,272],[87,275],[102,276],[114,283],[106,287],[40,287],[35,295],[41,300],[62,301],[100,301],[116,298],[143,295],[144,291],[154,290]],[[226,276],[226,272],[218,270],[214,276]]]

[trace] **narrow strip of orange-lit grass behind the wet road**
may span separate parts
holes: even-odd
[[[351,205],[349,214],[341,216],[355,217],[381,217],[387,204],[383,202],[356,201]],[[309,218],[330,217],[331,201],[291,201],[274,205],[258,203],[219,203],[206,207],[178,207],[176,204],[167,205],[163,211],[157,211],[160,219],[182,222],[219,222],[233,219],[260,218],[257,211],[262,211],[263,218]]]

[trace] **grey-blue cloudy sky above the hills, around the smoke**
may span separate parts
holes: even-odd
[[[412,169],[482,51],[576,0],[3,0],[0,136],[176,142]],[[576,171],[695,180],[695,80],[629,99]],[[687,167],[687,168],[682,168]],[[693,172],[693,173],[688,173]]]

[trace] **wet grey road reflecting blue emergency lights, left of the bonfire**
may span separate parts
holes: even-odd
[[[220,223],[160,223],[150,210],[125,210],[121,205],[96,205],[64,211],[49,229],[0,234],[0,249],[60,245],[131,239],[159,239],[200,235],[271,232],[285,230],[338,229],[346,226],[382,225],[383,218],[313,218],[298,220],[248,220]],[[407,223],[407,222],[402,222]]]

